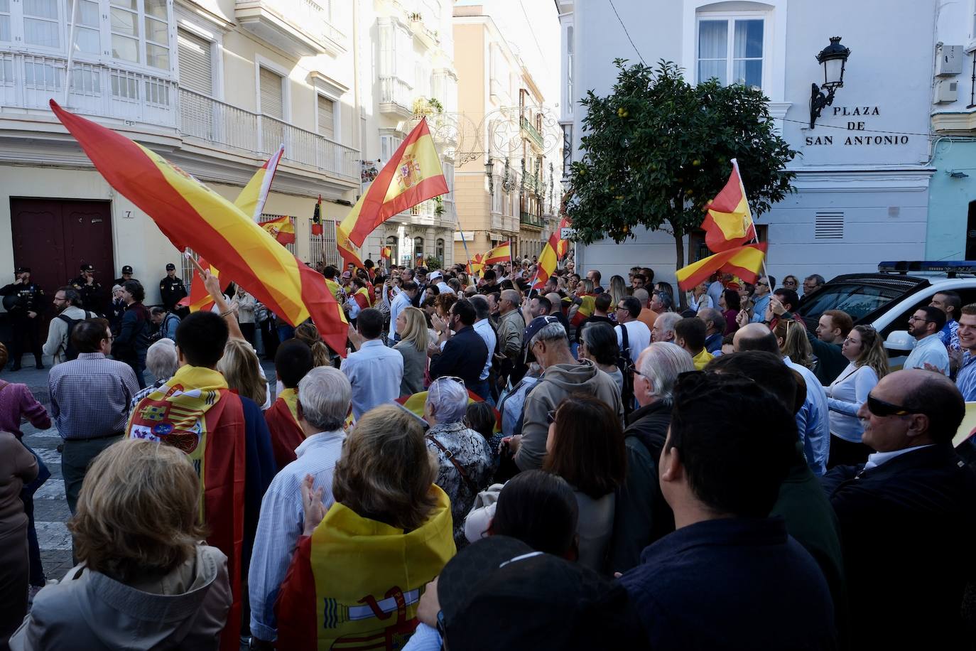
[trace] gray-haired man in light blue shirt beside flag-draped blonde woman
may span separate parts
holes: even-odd
[[[298,417],[305,440],[295,450],[298,459],[281,468],[264,493],[248,573],[251,634],[257,645],[265,643],[261,648],[272,648],[278,638],[274,601],[305,527],[305,476],[312,477],[312,499],[321,500],[324,509],[335,503],[332,476],[346,440],[343,424],[351,403],[352,387],[337,368],[315,367],[299,383]]]

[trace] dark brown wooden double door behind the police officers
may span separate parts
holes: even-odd
[[[95,279],[108,296],[115,277],[111,202],[11,197],[10,214],[14,266],[29,266],[44,290],[45,320],[54,315],[54,293],[78,275],[82,262],[95,265]],[[13,269],[8,273],[13,277]]]

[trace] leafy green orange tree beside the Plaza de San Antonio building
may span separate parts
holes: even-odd
[[[656,68],[615,61],[613,92],[581,100],[583,159],[572,165],[567,212],[574,239],[622,242],[635,226],[674,237],[678,268],[684,235],[697,228],[728,181],[736,158],[758,217],[793,192],[786,165],[796,155],[777,135],[766,98],[741,84],[711,79],[692,86],[671,61]]]

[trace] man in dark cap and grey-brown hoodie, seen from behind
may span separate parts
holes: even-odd
[[[569,351],[566,329],[554,316],[537,316],[525,329],[528,351],[543,370],[539,384],[525,398],[522,433],[507,438],[520,470],[542,468],[549,436],[549,412],[571,393],[589,393],[607,403],[624,421],[617,383],[589,359],[577,362]]]

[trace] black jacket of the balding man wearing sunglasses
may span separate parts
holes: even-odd
[[[948,443],[821,478],[840,521],[851,648],[971,648],[976,474]]]

